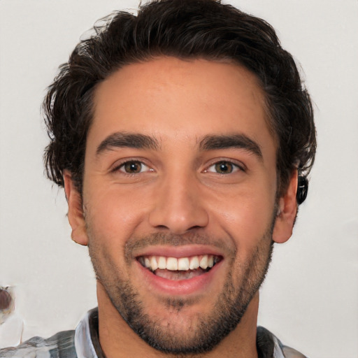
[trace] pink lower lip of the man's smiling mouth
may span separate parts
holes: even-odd
[[[205,292],[210,283],[215,280],[215,276],[217,275],[217,271],[220,270],[222,262],[223,260],[215,264],[210,271],[186,280],[169,280],[159,277],[148,270],[148,268],[143,267],[137,260],[136,265],[143,278],[143,282],[148,284],[150,292],[159,292],[159,294],[169,296],[187,296]]]

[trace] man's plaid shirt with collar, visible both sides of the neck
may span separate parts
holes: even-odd
[[[257,327],[259,358],[306,358],[282,345],[263,327]],[[80,321],[75,331],[63,331],[48,339],[34,337],[15,348],[0,350],[3,358],[106,358],[99,345],[98,310],[94,308]]]

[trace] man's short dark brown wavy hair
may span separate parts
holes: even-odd
[[[117,11],[93,30],[59,67],[43,103],[50,136],[45,170],[57,185],[64,185],[68,169],[82,192],[96,85],[127,64],[160,56],[224,60],[255,73],[278,143],[278,195],[285,192],[293,169],[301,176],[310,172],[316,150],[310,96],[292,55],[264,20],[215,0],[155,0],[137,15]]]

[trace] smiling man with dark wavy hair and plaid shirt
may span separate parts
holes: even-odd
[[[257,329],[316,146],[272,27],[213,0],[117,13],[78,44],[44,108],[46,169],[88,245],[98,310],[0,357],[303,357]]]

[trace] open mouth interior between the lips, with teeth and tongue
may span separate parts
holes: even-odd
[[[155,275],[169,280],[188,280],[203,275],[222,260],[215,255],[191,257],[141,256],[138,262]]]

